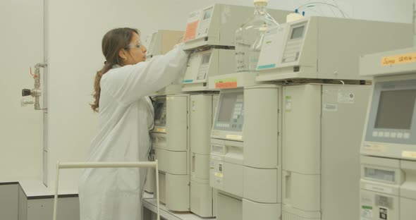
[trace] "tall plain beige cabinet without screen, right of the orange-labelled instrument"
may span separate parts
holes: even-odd
[[[283,85],[282,219],[359,219],[360,144],[370,85]]]

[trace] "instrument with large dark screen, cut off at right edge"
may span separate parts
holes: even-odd
[[[362,220],[415,219],[416,49],[360,58],[360,74],[374,77],[361,144]]]

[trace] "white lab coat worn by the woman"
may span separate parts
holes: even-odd
[[[183,72],[180,45],[151,61],[113,68],[100,82],[99,133],[88,161],[147,161],[153,106],[147,97]],[[85,169],[79,179],[80,220],[140,220],[145,169]]]

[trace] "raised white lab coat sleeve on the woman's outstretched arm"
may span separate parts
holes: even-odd
[[[183,73],[188,54],[176,45],[165,55],[135,65],[123,66],[104,74],[100,85],[121,104],[131,104],[141,97],[169,85]]]

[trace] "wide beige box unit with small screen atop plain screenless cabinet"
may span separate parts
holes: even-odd
[[[369,80],[362,54],[412,46],[412,25],[309,17],[267,30],[256,80]]]

